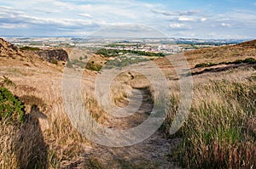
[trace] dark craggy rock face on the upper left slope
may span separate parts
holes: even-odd
[[[65,51],[64,49],[39,50],[35,53],[38,54],[40,58],[49,62],[67,61],[68,59],[67,51]]]

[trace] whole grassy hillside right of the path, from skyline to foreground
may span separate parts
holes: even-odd
[[[183,141],[170,159],[188,168],[256,166],[255,45],[244,42],[184,54],[192,68],[194,99],[188,121],[177,132]],[[156,62],[172,69],[163,60]],[[177,85],[171,82],[173,106],[166,131],[177,113]]]

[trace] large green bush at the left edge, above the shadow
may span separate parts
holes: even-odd
[[[4,87],[0,87],[0,121],[24,121],[24,105]]]

